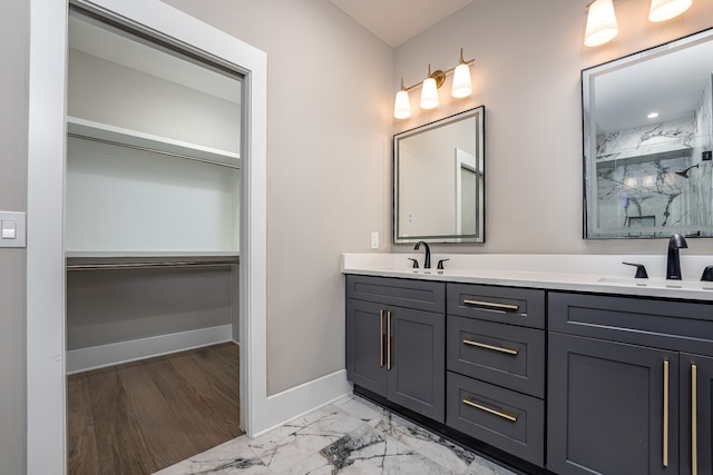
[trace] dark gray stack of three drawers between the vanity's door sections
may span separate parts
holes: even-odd
[[[446,424],[543,466],[545,291],[448,284]]]

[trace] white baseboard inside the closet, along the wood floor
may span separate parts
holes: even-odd
[[[67,374],[81,373],[153,356],[231,342],[232,325],[158,335],[149,338],[92,346],[67,352]]]

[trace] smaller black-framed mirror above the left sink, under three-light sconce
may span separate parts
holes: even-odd
[[[485,243],[485,107],[393,137],[393,241]]]

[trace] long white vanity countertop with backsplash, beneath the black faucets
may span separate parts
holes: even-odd
[[[431,269],[413,269],[409,258],[423,264],[422,254],[343,254],[342,273],[713,301],[713,281],[699,280],[713,265],[709,256],[681,256],[683,275],[692,277],[683,280],[664,278],[665,256],[437,254]],[[450,259],[442,271],[436,269],[439,259]],[[635,268],[622,261],[644,264],[649,278],[634,279]]]

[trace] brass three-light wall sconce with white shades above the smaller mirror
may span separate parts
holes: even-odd
[[[460,62],[457,67],[441,71],[440,69],[431,72],[431,65],[428,65],[428,76],[423,82],[417,82],[408,88],[403,86],[401,78],[401,90],[397,92],[397,99],[393,103],[393,117],[397,119],[408,119],[411,117],[411,102],[409,91],[421,87],[421,109],[433,109],[438,107],[438,89],[446,82],[446,75],[453,73],[453,82],[450,95],[455,98],[468,97],[472,93],[470,82],[470,67],[468,65],[475,62],[475,59],[463,60],[463,49],[460,49]]]

